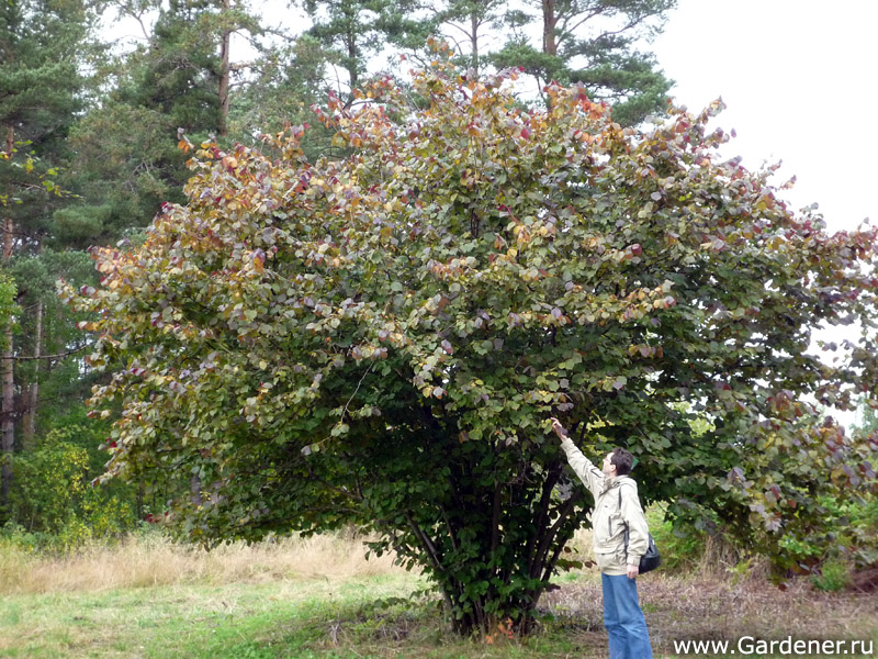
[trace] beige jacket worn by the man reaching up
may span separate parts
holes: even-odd
[[[650,529],[640,505],[637,482],[627,477],[608,478],[565,437],[561,448],[567,462],[595,498],[592,512],[592,543],[597,566],[605,574],[627,574],[646,552]],[[620,496],[621,493],[621,496]],[[621,500],[621,505],[619,505]],[[629,528],[628,557],[624,552],[624,525]]]

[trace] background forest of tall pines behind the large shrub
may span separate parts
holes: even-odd
[[[29,491],[61,473],[49,462],[57,460],[60,469],[68,454],[48,446],[41,453],[44,443],[55,443],[54,431],[65,432],[64,444],[72,438],[68,431],[77,428],[86,446],[106,423],[81,418],[87,392],[105,376],[83,367],[80,351],[93,337],[76,328],[78,316],[59,308],[54,281],[65,277],[77,287],[93,283],[88,246],[139,244],[164,202],[184,202],[189,156],[178,143],[198,144],[215,134],[215,146],[229,149],[236,141],[257,144],[260,132],[311,122],[316,125],[300,143],[304,157],[341,157],[351,148],[331,145],[334,127],[319,125],[308,110],[329,89],[350,103],[353,88],[381,63],[397,71],[409,66],[399,64],[405,58],[432,60],[426,44],[442,27],[457,38],[461,29],[468,34],[462,45],[466,53],[458,53],[454,62],[477,77],[498,66],[496,48],[508,37],[499,32],[502,24],[514,20],[515,41],[521,45],[522,35],[532,33],[524,23],[543,20],[539,12],[506,15],[505,5],[495,0],[294,4],[309,15],[294,21],[295,34],[267,15],[263,2],[247,0],[11,0],[0,7],[0,271],[14,284],[7,290],[14,290],[11,302],[19,310],[14,331],[9,323],[2,327],[0,526],[56,529],[56,522],[80,513],[68,506],[49,520],[50,506],[31,505],[36,494]],[[594,68],[605,55],[600,62],[610,57],[623,65],[634,37],[661,24],[662,12],[672,5],[669,0],[545,4],[543,14],[558,18],[552,23],[558,30],[550,30],[547,42],[560,44],[552,70],[564,71],[556,77],[567,81],[569,70]],[[111,13],[125,22],[108,22]],[[584,57],[581,49],[567,47],[572,42],[564,24],[574,19],[587,21],[587,30],[577,31],[583,37],[601,33],[595,22],[607,27],[607,20],[618,19],[612,27],[617,38]],[[139,36],[133,37],[130,26],[139,26]],[[529,62],[514,59],[507,57],[507,64],[536,70]],[[589,90],[611,94],[616,121],[637,123],[664,107],[662,88],[645,104],[637,101],[638,112],[624,110],[646,88],[661,87],[649,77],[638,80],[643,83],[633,87],[599,81]],[[180,131],[187,136],[182,142]],[[29,462],[30,454],[36,461]],[[31,476],[16,483],[13,463]],[[138,518],[165,510],[167,496],[157,494],[161,487],[156,479],[150,482],[151,503],[144,495],[145,480],[120,490],[127,491]],[[191,487],[181,487],[196,491],[198,482],[193,476]],[[132,516],[127,522],[135,521]],[[71,522],[72,534],[57,532],[58,537],[79,537],[79,522]]]

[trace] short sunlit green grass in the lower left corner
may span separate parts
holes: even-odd
[[[412,585],[405,577],[375,577],[11,595],[0,605],[0,656],[307,657],[297,646],[325,623]]]

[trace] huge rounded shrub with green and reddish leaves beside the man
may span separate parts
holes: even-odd
[[[330,98],[341,160],[308,163],[301,127],[272,157],[196,149],[188,203],[66,290],[112,373],[93,413],[122,405],[109,474],[196,474],[170,520],[205,544],[373,528],[458,630],[526,627],[589,503],[556,415],[587,453],[628,446],[648,502],[795,567],[818,498],[876,483],[878,439],[807,402],[876,392],[875,230],[828,235],[723,161],[719,103],[638,133],[583,86],[527,113],[503,82]],[[854,320],[838,365],[809,351]]]

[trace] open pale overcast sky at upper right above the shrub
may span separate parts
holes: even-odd
[[[700,111],[735,129],[730,156],[784,160],[775,183],[796,209],[818,202],[829,228],[878,222],[878,2],[679,0],[653,51]]]

